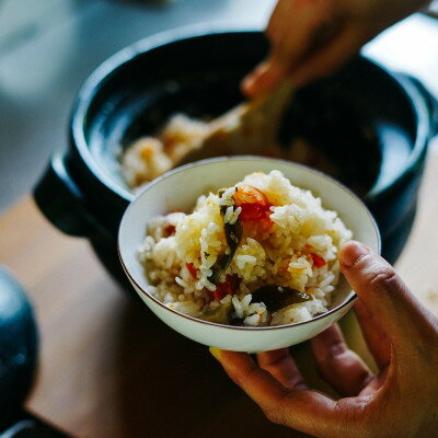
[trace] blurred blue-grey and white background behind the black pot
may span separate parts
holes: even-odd
[[[67,146],[76,93],[126,45],[200,23],[262,28],[274,0],[0,0],[0,211],[28,193]],[[438,2],[433,8],[438,11]],[[438,20],[416,14],[365,54],[438,95]]]

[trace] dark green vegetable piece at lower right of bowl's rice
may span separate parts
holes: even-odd
[[[274,313],[290,304],[310,301],[312,299],[308,293],[291,289],[285,286],[266,285],[252,292],[251,302],[263,302],[266,309]]]

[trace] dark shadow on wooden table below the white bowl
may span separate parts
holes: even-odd
[[[137,299],[120,312],[117,380],[120,437],[307,437],[268,422],[208,348],[178,335]]]

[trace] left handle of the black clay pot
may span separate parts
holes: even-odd
[[[105,235],[87,207],[84,196],[66,165],[66,158],[55,153],[33,192],[36,205],[60,231],[74,237]]]

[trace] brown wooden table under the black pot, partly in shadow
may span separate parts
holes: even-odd
[[[438,313],[437,181],[438,141],[396,267]],[[41,359],[26,407],[38,416],[81,437],[303,437],[268,423],[206,347],[129,297],[87,241],[58,232],[31,197],[0,218],[0,261],[35,306]],[[306,344],[296,351],[312,360]]]

